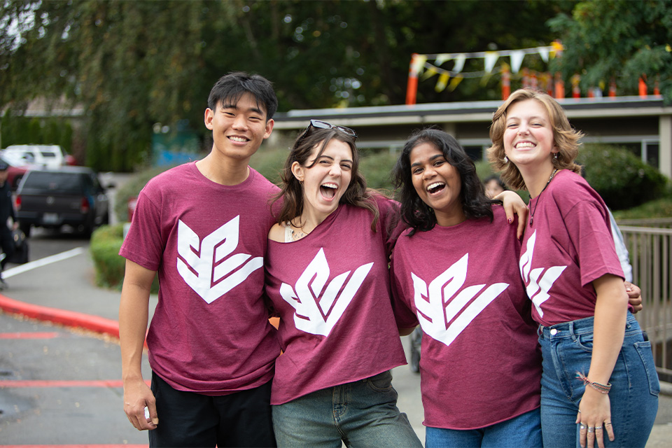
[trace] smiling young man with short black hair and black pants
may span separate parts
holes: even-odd
[[[209,155],[156,176],[139,195],[120,250],[119,330],[124,410],[135,428],[150,430],[152,447],[275,444],[269,397],[280,347],[262,290],[269,197],[278,189],[248,162],[276,109],[262,76],[223,76],[205,111]],[[141,357],[157,273],[150,389]]]

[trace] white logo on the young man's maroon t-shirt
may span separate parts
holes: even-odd
[[[236,216],[203,241],[183,221],[178,223],[177,252],[181,258],[177,258],[177,271],[207,303],[225,295],[264,265],[263,257],[231,255],[238,246],[239,221],[240,216]]]

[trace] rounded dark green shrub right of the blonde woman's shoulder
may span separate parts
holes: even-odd
[[[667,178],[626,148],[585,144],[577,162],[584,166],[586,180],[610,209],[636,207],[666,192]]]

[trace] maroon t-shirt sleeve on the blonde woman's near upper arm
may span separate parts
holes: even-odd
[[[624,278],[611,230],[601,209],[601,204],[594,200],[581,201],[564,220],[572,223],[568,232],[578,254],[582,286],[605,274]]]

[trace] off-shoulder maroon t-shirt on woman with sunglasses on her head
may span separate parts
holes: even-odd
[[[358,381],[406,363],[391,306],[388,230],[397,204],[377,198],[380,219],[340,204],[298,241],[268,241],[266,293],[280,316],[283,354],[271,404]]]

